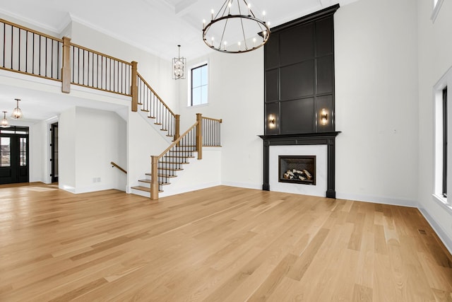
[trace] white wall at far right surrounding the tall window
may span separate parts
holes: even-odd
[[[432,23],[430,1],[417,1],[419,22],[419,207],[436,233],[452,250],[452,211],[432,197],[434,192],[434,95],[433,86],[452,66],[452,3],[444,1]],[[449,83],[451,86],[452,83]],[[449,93],[450,94],[450,93]],[[452,125],[449,124],[449,133]],[[451,149],[449,149],[451,152]],[[449,153],[451,154],[451,153]],[[448,187],[452,179],[448,178]],[[449,197],[451,198],[451,197]]]

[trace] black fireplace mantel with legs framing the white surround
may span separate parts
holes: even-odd
[[[262,190],[269,191],[269,154],[270,146],[291,145],[327,145],[328,180],[326,197],[335,198],[335,137],[340,132],[319,132],[303,134],[259,135],[263,139],[263,185]]]

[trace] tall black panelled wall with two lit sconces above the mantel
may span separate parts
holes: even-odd
[[[333,15],[338,8],[271,29],[264,47],[266,135],[335,131]]]

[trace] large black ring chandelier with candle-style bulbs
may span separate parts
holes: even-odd
[[[256,18],[246,0],[226,0],[210,22],[203,21],[203,41],[219,52],[238,54],[251,52],[266,44],[270,37],[269,23]]]

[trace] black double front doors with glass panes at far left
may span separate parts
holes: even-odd
[[[0,128],[0,184],[29,181],[28,127]]]

